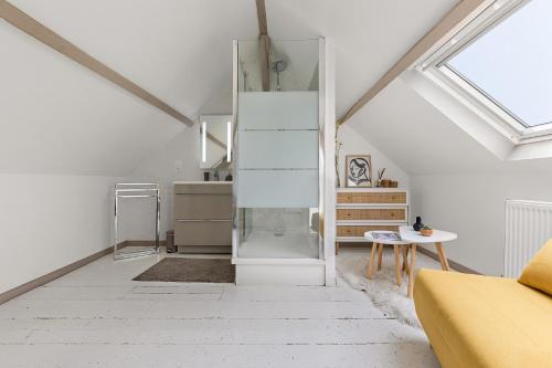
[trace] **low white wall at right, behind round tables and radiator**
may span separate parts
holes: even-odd
[[[458,233],[450,260],[475,271],[503,271],[505,200],[552,201],[552,172],[412,176],[413,211],[424,223]],[[433,250],[435,251],[435,250]]]

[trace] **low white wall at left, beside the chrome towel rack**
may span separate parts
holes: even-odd
[[[0,293],[109,246],[116,181],[0,174]]]

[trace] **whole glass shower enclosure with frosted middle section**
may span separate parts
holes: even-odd
[[[320,40],[234,42],[233,260],[323,259]]]

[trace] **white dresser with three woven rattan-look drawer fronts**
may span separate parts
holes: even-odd
[[[367,231],[399,231],[408,222],[405,189],[340,188],[337,192],[336,251],[340,243],[365,242]]]

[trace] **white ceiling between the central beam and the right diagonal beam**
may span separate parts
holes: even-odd
[[[273,39],[332,40],[339,117],[457,2],[266,0],[268,33]]]

